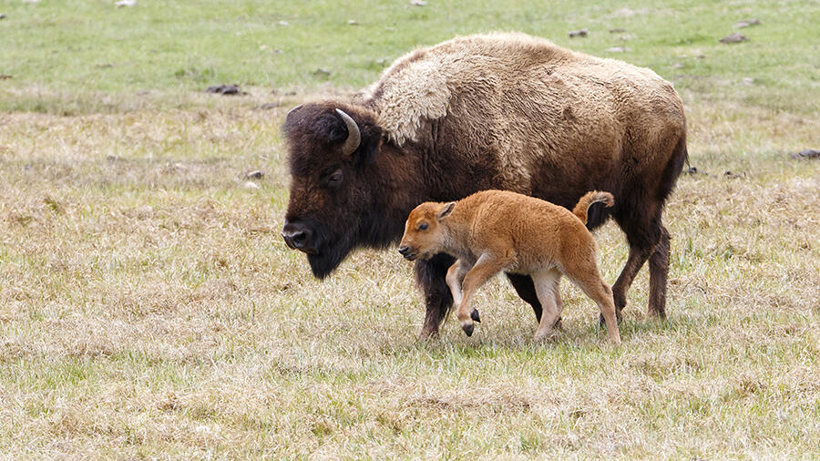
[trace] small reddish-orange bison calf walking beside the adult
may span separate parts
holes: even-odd
[[[541,315],[535,338],[552,333],[563,303],[559,279],[566,275],[598,304],[610,333],[620,344],[612,291],[600,278],[592,234],[584,226],[589,205],[612,205],[608,192],[584,195],[569,210],[515,192],[485,190],[457,202],[425,202],[410,213],[399,252],[408,259],[429,259],[444,252],[457,258],[446,281],[458,306],[456,316],[467,336],[478,319],[470,299],[499,271],[532,277]]]

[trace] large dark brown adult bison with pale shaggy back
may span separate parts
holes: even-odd
[[[282,229],[316,277],[356,247],[384,248],[410,210],[477,190],[514,190],[571,208],[589,190],[615,196],[610,215],[630,254],[612,286],[615,305],[644,261],[650,314],[665,315],[669,233],[663,205],[681,172],[681,98],[649,69],[600,59],[523,34],[463,36],[395,61],[348,101],[304,104],[288,114],[291,198]],[[422,336],[452,305],[450,256],[418,261],[425,292]],[[532,280],[507,274],[540,318]]]

